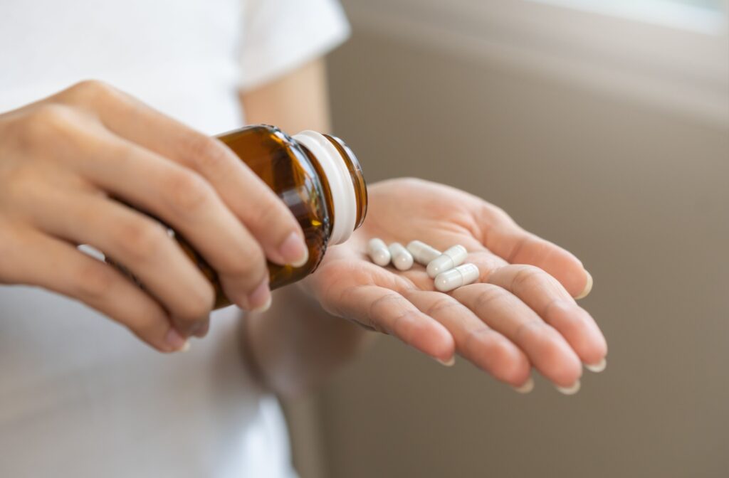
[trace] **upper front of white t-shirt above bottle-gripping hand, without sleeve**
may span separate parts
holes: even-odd
[[[2,1],[0,112],[101,79],[205,133],[235,128],[241,4]]]

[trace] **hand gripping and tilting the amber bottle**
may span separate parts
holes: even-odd
[[[100,82],[0,115],[0,283],[82,300],[162,351],[202,336],[212,286],[154,214],[200,251],[227,297],[268,302],[265,256],[306,254],[281,200],[221,142]],[[144,283],[82,254],[104,251]]]

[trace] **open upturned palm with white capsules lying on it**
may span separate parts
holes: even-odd
[[[445,364],[459,353],[522,391],[531,389],[531,367],[569,393],[579,387],[582,363],[602,363],[605,339],[573,299],[588,294],[592,279],[572,254],[451,187],[396,179],[368,192],[362,227],[330,248],[305,279],[327,312],[394,335]],[[366,255],[375,237],[418,239],[441,251],[461,244],[480,283],[443,294],[422,266],[379,267]]]

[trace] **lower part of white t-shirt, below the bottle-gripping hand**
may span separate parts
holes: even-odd
[[[0,287],[0,476],[288,477],[284,423],[240,312],[163,355],[70,299]]]

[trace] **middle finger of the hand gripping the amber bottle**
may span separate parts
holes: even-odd
[[[205,179],[136,144],[112,135],[103,140],[90,151],[98,161],[79,165],[87,179],[181,233],[217,270],[236,305],[254,310],[270,303],[260,244]]]

